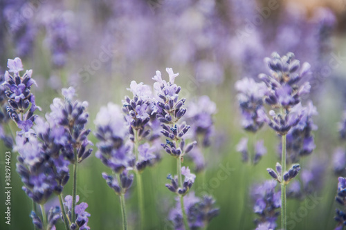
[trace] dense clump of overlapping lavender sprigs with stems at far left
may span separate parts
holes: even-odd
[[[30,86],[35,84],[31,78],[32,70],[23,70],[21,59],[8,60],[10,75],[5,73],[8,88],[7,111],[11,119],[21,131],[17,132],[15,150],[17,157],[17,172],[24,182],[23,189],[29,198],[40,204],[42,209],[43,227],[54,227],[51,220],[46,218],[43,204],[55,193],[60,198],[62,217],[66,229],[70,229],[75,222],[75,204],[71,208],[71,218],[67,218],[62,204],[62,190],[69,180],[69,164],[74,164],[73,171],[73,201],[77,184],[77,164],[91,154],[91,149],[86,150],[90,144],[87,140],[89,130],[84,128],[88,115],[84,112],[87,103],[71,102],[75,94],[73,88],[63,89],[65,104],[59,98],[54,99],[51,105],[52,112],[46,115],[46,120],[34,115],[37,108],[35,96],[30,93]],[[35,122],[35,123],[34,123]],[[39,226],[39,217],[33,204],[33,223]],[[53,218],[53,217],[51,217]],[[38,223],[38,224],[37,224]],[[70,226],[70,227],[69,227]],[[82,225],[78,225],[82,226]],[[55,227],[54,227],[55,228]]]

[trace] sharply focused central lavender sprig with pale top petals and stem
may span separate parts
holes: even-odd
[[[174,79],[179,75],[179,73],[174,73],[172,68],[166,68],[166,71],[170,77],[169,82],[162,79],[160,71],[156,71],[156,75],[153,77],[156,81],[154,83],[154,89],[158,95],[158,99],[154,102],[155,106],[153,112],[156,113],[156,118],[161,122],[163,128],[161,133],[168,138],[166,143],[162,144],[162,146],[168,154],[176,158],[176,171],[178,176],[177,178],[171,178],[169,176],[168,178],[173,184],[171,186],[167,184],[166,186],[171,191],[178,191],[177,194],[181,200],[184,226],[185,229],[188,229],[188,220],[185,213],[183,196],[186,195],[188,189],[192,186],[194,175],[190,174],[190,170],[181,167],[181,162],[183,162],[185,154],[189,153],[197,142],[194,141],[190,144],[185,144],[183,136],[188,133],[191,126],[187,125],[185,122],[179,123],[179,120],[187,111],[186,108],[183,108],[185,98],[179,99],[181,87],[174,84]],[[186,173],[185,177],[193,178],[193,180],[187,180],[187,178],[185,178],[183,182],[181,177],[183,172]]]

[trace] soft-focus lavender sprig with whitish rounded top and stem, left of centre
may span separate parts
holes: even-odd
[[[113,175],[102,173],[102,177],[120,197],[122,228],[127,229],[125,193],[134,180],[134,175],[128,175],[127,169],[136,164],[136,157],[132,154],[132,146],[128,141],[129,128],[123,119],[120,107],[111,103],[100,109],[95,125],[95,136],[99,140],[96,145],[98,147],[96,157],[116,175],[114,178]]]

